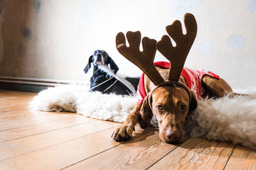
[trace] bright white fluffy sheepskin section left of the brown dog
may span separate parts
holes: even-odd
[[[70,111],[87,117],[124,122],[133,110],[136,97],[89,92],[88,85],[49,87],[29,104],[33,110]]]

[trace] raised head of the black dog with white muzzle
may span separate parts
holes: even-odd
[[[115,62],[109,57],[108,53],[106,53],[104,50],[96,50],[93,52],[93,55],[89,57],[88,64],[84,68],[84,73],[88,73],[91,63],[93,63],[94,67],[97,67],[99,65],[110,65],[110,69],[116,73],[118,71],[118,66],[116,66]]]

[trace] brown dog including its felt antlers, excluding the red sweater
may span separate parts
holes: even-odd
[[[115,129],[112,137],[124,141],[132,137],[134,125],[140,124],[145,129],[152,116],[157,118],[159,138],[166,143],[180,143],[184,140],[183,125],[189,111],[196,109],[197,101],[194,91],[188,88],[188,82],[180,73],[188,52],[196,36],[197,26],[193,15],[184,17],[187,34],[182,34],[179,21],[166,27],[166,31],[176,42],[173,47],[168,36],[161,41],[143,38],[143,52],[140,52],[140,32],[127,32],[129,47],[125,45],[125,36],[120,32],[116,36],[116,47],[124,57],[140,67],[147,75],[144,86],[147,96],[142,103],[137,103],[124,124]],[[171,62],[171,69],[155,67],[153,64],[156,48]],[[210,97],[234,96],[230,86],[221,78],[208,74],[201,77],[204,94]],[[201,92],[199,92],[201,93]]]

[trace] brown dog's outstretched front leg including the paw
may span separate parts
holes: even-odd
[[[134,125],[139,121],[141,105],[136,104],[134,110],[128,115],[125,122],[118,128],[115,129],[112,136],[116,141],[125,141],[132,138],[132,132],[135,131]]]

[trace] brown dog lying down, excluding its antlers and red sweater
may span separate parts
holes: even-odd
[[[160,73],[168,73],[168,69],[161,69]],[[166,74],[165,74],[166,75]],[[164,78],[166,80],[166,77]],[[180,76],[180,82],[186,85],[186,81]],[[202,83],[209,96],[223,97],[232,94],[232,89],[225,80],[217,80],[211,76],[205,75]],[[134,125],[140,122],[141,128],[145,129],[154,115],[159,125],[159,138],[166,143],[180,143],[184,139],[183,125],[189,111],[196,109],[197,102],[193,92],[191,92],[191,101],[186,90],[182,87],[162,86],[155,89],[152,81],[145,76],[145,89],[148,96],[143,104],[137,103],[132,113],[127,117],[124,124],[115,129],[113,138],[116,141],[124,141],[131,138]],[[152,109],[150,108],[150,105]],[[141,121],[143,117],[144,121]],[[141,124],[142,123],[142,124]]]

